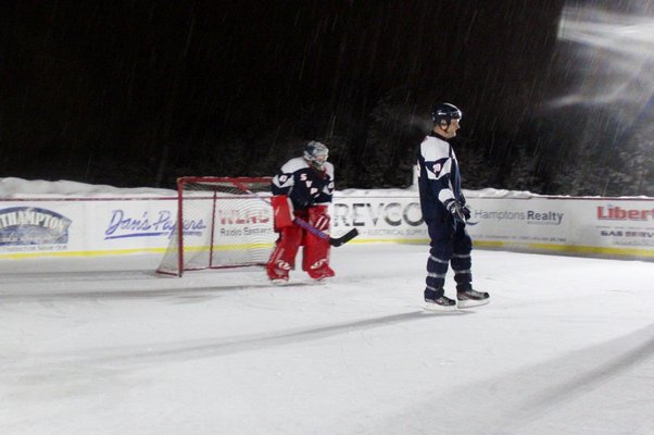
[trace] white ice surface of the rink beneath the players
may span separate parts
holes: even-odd
[[[426,259],[351,244],[284,287],[0,262],[0,433],[654,433],[653,263],[476,250],[491,303],[433,314]]]

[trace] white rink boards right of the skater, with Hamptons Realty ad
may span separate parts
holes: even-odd
[[[654,258],[654,199],[473,198],[480,247]]]

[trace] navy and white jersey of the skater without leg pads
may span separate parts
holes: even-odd
[[[461,191],[458,162],[452,146],[430,135],[420,144],[418,152],[418,189],[425,221],[441,221],[450,215],[444,203],[455,199],[465,203]]]

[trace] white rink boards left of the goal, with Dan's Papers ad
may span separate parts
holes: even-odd
[[[0,258],[163,251],[175,213],[174,200],[1,201]]]

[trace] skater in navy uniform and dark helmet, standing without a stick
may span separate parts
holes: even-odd
[[[456,136],[462,112],[450,103],[437,104],[433,129],[420,144],[418,188],[420,208],[431,239],[427,260],[425,304],[428,310],[452,310],[489,302],[489,294],[473,289],[473,240],[466,231],[470,210],[461,188],[458,162],[449,139]],[[452,265],[457,301],[444,294]]]

